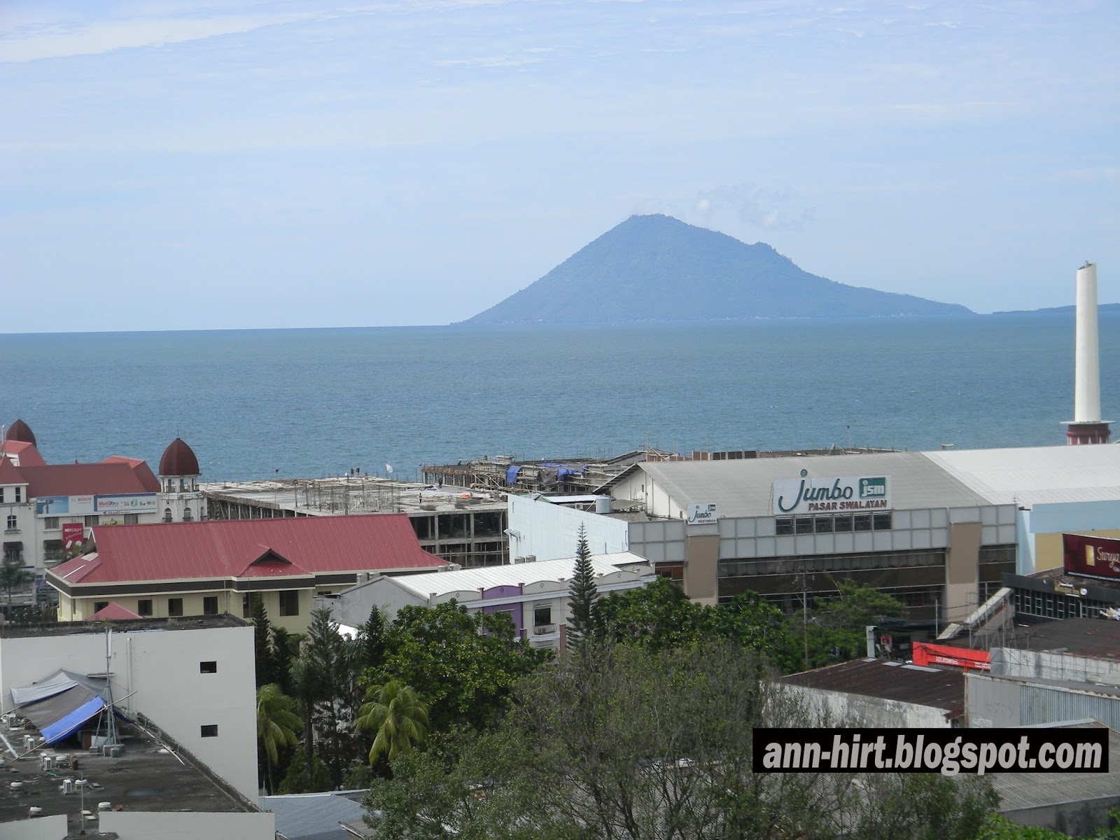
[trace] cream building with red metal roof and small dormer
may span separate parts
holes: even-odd
[[[47,572],[59,622],[112,603],[144,617],[248,616],[261,592],[273,624],[302,633],[317,594],[447,567],[400,514],[95,526],[87,551]]]

